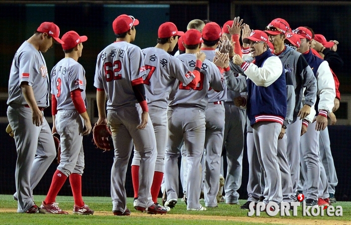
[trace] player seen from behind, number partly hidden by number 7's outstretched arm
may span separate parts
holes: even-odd
[[[184,140],[187,151],[187,210],[206,210],[200,202],[201,157],[205,143],[205,108],[208,105],[208,90],[222,91],[222,75],[214,63],[197,60],[196,54],[202,43],[201,33],[195,29],[186,32],[184,46],[186,54],[178,56],[189,68],[200,72],[196,87],[176,81],[169,95],[168,140],[164,160],[164,180],[167,191],[165,205],[175,205],[178,199],[178,156]]]

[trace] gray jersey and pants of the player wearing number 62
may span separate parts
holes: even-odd
[[[126,210],[125,175],[134,142],[141,157],[137,206],[153,205],[150,188],[157,156],[156,139],[151,122],[144,129],[140,124],[141,107],[131,82],[146,76],[139,47],[127,42],[115,42],[102,50],[97,58],[94,86],[107,94],[107,120],[111,126],[114,162],[111,170],[113,210]],[[150,118],[148,117],[148,121]]]

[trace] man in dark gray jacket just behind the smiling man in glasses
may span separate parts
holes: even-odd
[[[293,49],[286,47],[280,40],[285,38],[290,30],[286,21],[277,18],[274,19],[267,27],[266,33],[270,36],[270,42],[274,47],[274,54],[279,57],[283,63],[287,75],[290,76],[295,89],[295,106],[292,122],[283,123],[282,128],[286,134],[287,159],[292,181],[292,198],[296,200],[296,189],[299,177],[299,140],[301,136],[301,119],[305,118],[309,113],[311,106],[315,103],[316,96],[316,79],[313,76],[311,68],[308,66],[304,57]],[[305,101],[302,106],[302,90],[305,91]],[[286,127],[286,129],[285,129]],[[284,132],[282,129],[281,132]],[[267,173],[267,176],[270,174]]]

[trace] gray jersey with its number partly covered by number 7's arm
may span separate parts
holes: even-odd
[[[188,66],[190,71],[194,70],[197,59],[195,54],[183,54],[178,58]],[[182,104],[206,109],[208,105],[207,93],[210,87],[222,91],[222,75],[216,65],[206,59],[202,63],[200,81],[197,87],[192,89],[182,82],[176,81],[169,95],[169,106]]]

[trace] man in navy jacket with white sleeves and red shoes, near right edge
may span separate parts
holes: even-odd
[[[315,111],[308,116],[308,122],[304,121],[303,126],[307,132],[301,137],[301,167],[305,178],[304,193],[306,205],[329,205],[325,200],[329,197],[327,191],[323,194],[323,188],[327,190],[327,179],[324,167],[319,155],[319,131],[327,126],[327,115],[332,112],[335,99],[335,83],[326,61],[319,59],[310,51],[312,33],[305,27],[298,27],[293,31],[301,38],[300,53],[306,59],[308,65],[313,68],[313,74],[317,79],[317,101]],[[316,117],[315,117],[316,115]],[[323,170],[321,173],[321,169]],[[322,176],[320,178],[320,176]],[[323,182],[323,183],[322,183]],[[306,187],[306,188],[305,188]],[[321,191],[320,191],[321,189]],[[319,191],[318,191],[319,190]]]

